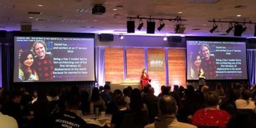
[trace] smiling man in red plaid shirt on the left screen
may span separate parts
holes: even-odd
[[[46,43],[34,42],[32,50],[37,55],[35,65],[39,80],[53,80],[53,63],[52,58],[46,53]]]

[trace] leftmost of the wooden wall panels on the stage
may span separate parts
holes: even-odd
[[[123,82],[123,48],[105,48],[105,80]]]

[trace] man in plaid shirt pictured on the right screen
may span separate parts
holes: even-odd
[[[203,44],[200,52],[203,55],[201,67],[205,71],[205,78],[214,79],[216,77],[216,59],[210,53],[210,47],[207,44]]]

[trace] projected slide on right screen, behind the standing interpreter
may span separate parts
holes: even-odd
[[[187,80],[247,79],[245,42],[187,40]]]

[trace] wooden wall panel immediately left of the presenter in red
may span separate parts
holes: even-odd
[[[127,48],[127,80],[139,82],[144,67],[144,48]]]

